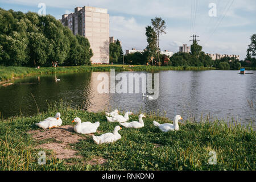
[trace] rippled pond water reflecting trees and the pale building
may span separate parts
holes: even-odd
[[[256,116],[256,71],[240,75],[238,71],[159,71],[159,97],[147,100],[142,94],[100,94],[97,77],[100,73],[62,73],[26,77],[13,85],[0,86],[0,112],[5,118],[37,113],[48,103],[60,101],[80,106],[88,111],[139,110],[158,112],[174,118],[174,112],[184,119],[210,114],[213,118],[238,119],[241,123],[254,123]],[[147,72],[123,72],[147,73]],[[55,82],[55,78],[61,81]],[[71,102],[72,101],[72,102]],[[254,125],[255,128],[255,125]]]

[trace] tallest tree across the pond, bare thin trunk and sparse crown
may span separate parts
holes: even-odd
[[[159,36],[161,34],[166,34],[166,22],[162,20],[162,18],[155,17],[155,19],[151,19],[151,23],[158,37],[158,61],[160,61]]]

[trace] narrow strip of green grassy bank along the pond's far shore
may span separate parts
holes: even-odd
[[[123,69],[123,67],[125,69]],[[0,80],[8,80],[16,77],[39,75],[47,73],[65,73],[65,72],[104,72],[115,69],[115,71],[159,71],[159,70],[209,70],[214,68],[205,67],[151,67],[143,65],[92,65],[92,66],[77,66],[77,67],[49,67],[49,68],[28,68],[28,67],[1,67]]]

